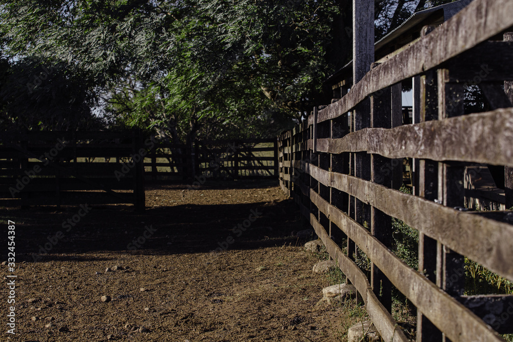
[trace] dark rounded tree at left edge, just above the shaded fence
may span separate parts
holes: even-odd
[[[8,130],[85,130],[101,127],[80,74],[35,57],[4,61],[0,127]],[[73,115],[69,115],[73,113]]]

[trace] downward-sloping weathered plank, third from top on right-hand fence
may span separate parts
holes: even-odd
[[[304,163],[303,170],[326,186],[337,188],[403,220],[408,226],[513,280],[513,226],[444,207],[424,198],[387,189],[353,176]],[[461,237],[465,236],[464,239]]]

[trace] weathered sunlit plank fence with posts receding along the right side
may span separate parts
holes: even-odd
[[[418,341],[513,333],[513,296],[464,295],[465,256],[513,281],[513,213],[462,208],[465,167],[513,167],[512,26],[513,2],[474,0],[279,137],[283,191],[357,288],[384,341],[407,340],[392,318],[392,286],[417,308]],[[402,125],[408,78],[413,124]],[[468,85],[495,110],[465,115]],[[413,159],[412,194],[399,191],[402,158]],[[419,232],[418,270],[390,251],[392,217]],[[347,237],[346,252],[337,233]],[[371,261],[370,279],[358,254]]]

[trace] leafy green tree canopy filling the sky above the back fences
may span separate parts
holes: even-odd
[[[351,0],[0,4],[4,128],[274,136],[351,56]],[[424,6],[377,0],[377,36]]]

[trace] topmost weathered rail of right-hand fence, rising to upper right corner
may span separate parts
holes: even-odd
[[[336,103],[319,111],[318,122],[350,111],[368,95],[435,68],[513,26],[510,0],[474,0],[428,35],[370,70]]]

